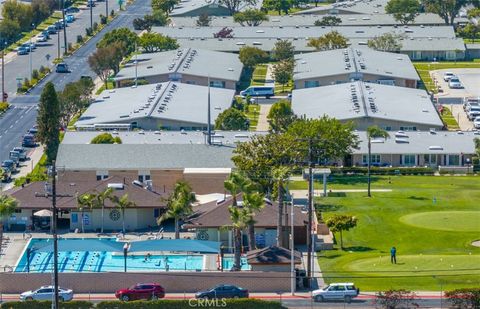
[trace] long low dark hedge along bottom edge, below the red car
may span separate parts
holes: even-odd
[[[8,309],[50,309],[52,303],[50,301],[28,301],[28,302],[8,302],[1,306],[1,308]],[[209,308],[228,308],[228,309],[283,309],[279,302],[265,301],[260,299],[226,299],[226,300],[157,300],[157,301],[132,301],[121,302],[102,301],[96,305],[88,301],[69,301],[60,303],[60,309],[184,309],[193,307],[209,307]]]

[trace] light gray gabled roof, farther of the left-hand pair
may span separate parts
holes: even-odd
[[[138,60],[137,68],[135,68],[135,60]],[[238,59],[238,55],[185,48],[138,55],[132,58],[114,79],[134,79],[136,70],[138,78],[179,73],[239,81],[242,69],[243,64]]]

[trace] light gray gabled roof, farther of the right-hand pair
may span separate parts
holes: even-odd
[[[345,60],[345,53],[348,61]],[[295,56],[294,79],[365,73],[390,78],[420,80],[406,55],[379,52],[369,48],[348,48]],[[349,67],[346,67],[346,63]],[[365,68],[360,66],[365,65]]]

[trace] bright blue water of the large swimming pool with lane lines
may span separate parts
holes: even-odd
[[[82,241],[88,239],[72,239],[62,241]],[[115,242],[112,240],[105,240]],[[53,269],[53,253],[37,251],[42,245],[51,243],[49,239],[32,239],[28,245],[33,248],[30,254],[30,272],[51,272]],[[202,270],[203,255],[152,255],[145,260],[144,255],[128,255],[128,271],[165,271],[173,270]],[[112,272],[124,271],[124,257],[122,253],[108,251],[59,251],[58,265],[60,272]],[[167,266],[168,265],[168,266]],[[15,268],[16,272],[27,271],[27,253]]]

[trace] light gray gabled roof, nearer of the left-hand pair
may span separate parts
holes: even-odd
[[[235,91],[210,87],[210,92],[214,121],[231,106]],[[208,87],[176,82],[106,90],[75,125],[125,123],[140,118],[206,124],[207,96]]]

